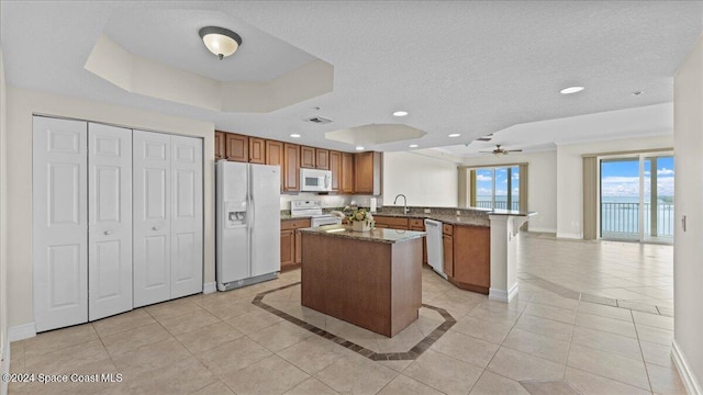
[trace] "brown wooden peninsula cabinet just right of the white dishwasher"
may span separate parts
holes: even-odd
[[[443,225],[444,271],[462,290],[488,294],[491,286],[491,228]]]

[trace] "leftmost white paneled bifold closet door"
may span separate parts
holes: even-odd
[[[33,119],[34,320],[88,320],[87,123]]]

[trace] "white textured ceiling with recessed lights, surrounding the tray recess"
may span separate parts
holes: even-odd
[[[293,140],[289,134],[299,133],[298,143],[343,150],[354,147],[325,139],[325,132],[404,123],[427,132],[414,142],[421,148],[464,146],[495,132],[516,134],[521,146],[515,148],[528,148],[529,134],[546,129],[588,140],[593,129],[559,129],[562,124],[543,121],[671,102],[672,76],[701,33],[703,16],[700,1],[3,0],[0,7],[11,86],[208,120],[220,129],[270,138]],[[174,14],[178,23],[169,18]],[[226,70],[209,66],[210,54],[187,42],[205,21],[270,35],[277,45],[255,48],[276,53],[267,54],[266,63],[293,67],[310,55],[332,64],[334,91],[271,113],[232,114],[124,92],[83,69],[104,33],[167,65],[230,78]],[[149,32],[178,40],[164,47],[134,41]],[[299,57],[277,53],[290,49],[286,43],[300,50],[293,50]],[[232,67],[237,55],[230,59]],[[280,72],[268,66],[261,64],[249,78]],[[571,84],[587,89],[558,93]],[[397,110],[410,115],[395,119],[391,113]],[[311,116],[334,122],[304,122]],[[531,123],[537,126],[518,127]],[[655,124],[661,129],[618,127],[604,138],[671,133],[667,122]],[[449,138],[450,133],[461,137]],[[408,144],[367,148],[405,150]]]

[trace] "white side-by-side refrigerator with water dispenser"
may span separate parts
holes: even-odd
[[[280,264],[280,168],[220,160],[216,281],[226,291],[276,279]]]

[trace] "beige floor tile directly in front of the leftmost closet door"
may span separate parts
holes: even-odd
[[[30,359],[94,339],[98,339],[98,332],[96,332],[92,325],[82,324],[42,332],[33,338],[22,340],[21,343],[24,346],[24,357]]]

